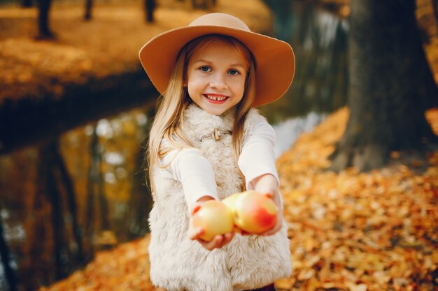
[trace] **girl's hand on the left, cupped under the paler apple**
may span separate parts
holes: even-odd
[[[223,234],[223,235],[218,234],[211,241],[204,241],[204,239],[201,239],[201,236],[204,233],[204,230],[202,229],[202,227],[194,227],[193,226],[193,223],[192,223],[193,214],[195,214],[196,211],[199,210],[202,202],[204,202],[206,200],[211,200],[211,199],[213,199],[213,198],[211,198],[211,197],[204,198],[203,197],[193,205],[192,211],[190,211],[190,223],[189,223],[189,228],[188,228],[188,237],[192,240],[197,240],[199,242],[199,244],[204,246],[204,248],[206,248],[209,251],[213,250],[214,248],[222,248],[222,246],[225,246],[226,244],[228,244],[229,241],[231,241],[232,238],[234,237],[234,232],[230,232],[230,233]]]

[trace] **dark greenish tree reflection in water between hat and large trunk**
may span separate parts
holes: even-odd
[[[343,106],[348,82],[346,20],[306,1],[264,1],[274,15],[274,34],[292,45],[296,59],[295,79],[288,92],[261,108],[269,121],[278,123]]]

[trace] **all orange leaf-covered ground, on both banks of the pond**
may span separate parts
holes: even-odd
[[[269,31],[266,8],[248,1],[219,1],[216,10],[243,18],[253,30]],[[34,40],[36,10],[25,10],[22,17],[21,8],[1,8],[0,84],[6,87],[0,104],[5,97],[29,98],[38,90],[62,96],[63,84],[132,70],[139,66],[139,47],[150,37],[204,13],[184,4],[162,6],[157,22],[144,24],[138,1],[125,1],[122,10],[117,1],[108,3],[96,6],[89,23],[81,20],[82,7],[55,5],[56,43]],[[428,3],[418,0],[417,16],[438,82],[437,24]],[[427,116],[438,135],[438,110]],[[347,108],[334,112],[278,158],[294,271],[276,288],[438,290],[438,151],[393,152],[388,167],[371,172],[327,171],[347,119]],[[149,281],[147,246],[148,236],[97,253],[84,269],[41,291],[157,290]]]

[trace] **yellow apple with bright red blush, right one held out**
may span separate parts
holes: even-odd
[[[274,200],[256,191],[235,193],[222,202],[232,211],[234,224],[249,234],[261,234],[277,223]]]

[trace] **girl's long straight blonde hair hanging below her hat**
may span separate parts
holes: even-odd
[[[253,55],[248,48],[229,36],[208,35],[195,38],[185,45],[176,59],[174,70],[169,80],[167,90],[157,103],[157,112],[150,128],[149,144],[146,159],[149,165],[149,183],[150,188],[155,192],[153,184],[153,167],[167,167],[160,163],[160,158],[167,154],[172,149],[183,149],[193,147],[190,141],[185,137],[181,130],[180,124],[183,121],[185,108],[192,102],[188,96],[187,88],[183,86],[187,76],[186,70],[190,58],[202,50],[206,45],[215,41],[222,41],[231,45],[236,52],[241,54],[248,65],[248,74],[245,81],[245,91],[242,100],[235,106],[235,119],[232,128],[232,149],[234,159],[237,163],[241,147],[243,143],[243,129],[245,125],[246,114],[250,110],[255,97],[255,61]],[[161,147],[162,140],[169,141],[169,147]],[[243,188],[245,188],[245,179],[240,172],[243,181]]]

